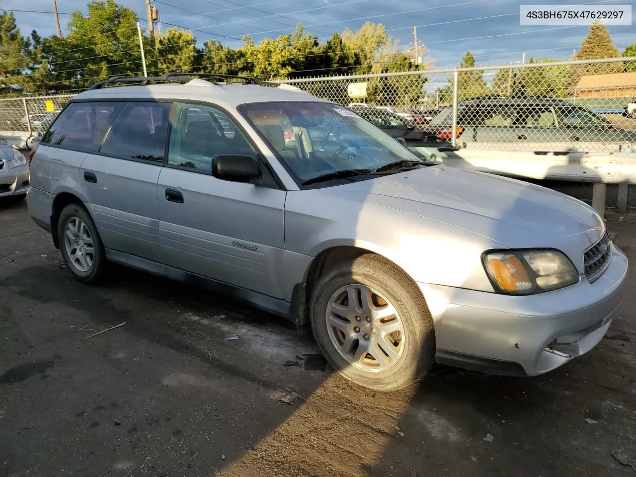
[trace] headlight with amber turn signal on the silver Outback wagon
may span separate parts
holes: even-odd
[[[483,266],[495,291],[529,295],[574,285],[579,274],[572,262],[556,250],[487,252]]]

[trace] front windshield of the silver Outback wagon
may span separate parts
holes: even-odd
[[[336,104],[266,102],[239,111],[302,182],[342,170],[422,162],[389,134]]]

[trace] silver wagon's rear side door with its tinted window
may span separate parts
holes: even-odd
[[[157,182],[172,103],[130,101],[120,105],[104,144],[86,156],[79,181],[107,248],[160,261]]]

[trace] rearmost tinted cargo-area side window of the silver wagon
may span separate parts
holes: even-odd
[[[87,153],[99,151],[121,107],[123,102],[71,103],[46,132],[41,144]]]

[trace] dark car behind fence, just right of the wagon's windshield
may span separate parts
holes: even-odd
[[[413,125],[408,125],[402,116],[392,111],[378,107],[352,107],[355,113],[362,116],[367,121],[375,124],[387,134],[396,139],[404,139],[407,146],[452,148],[450,142],[444,141],[438,135],[418,130]]]

